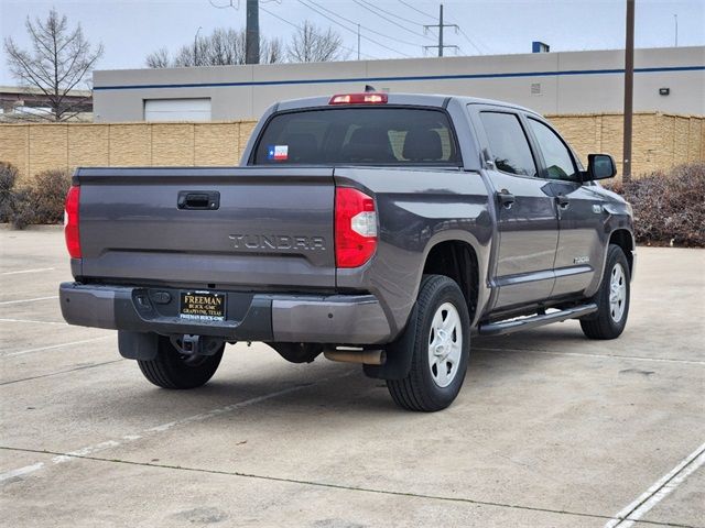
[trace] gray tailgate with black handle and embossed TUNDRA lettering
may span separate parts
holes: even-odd
[[[74,179],[85,279],[335,287],[333,168],[82,168]]]

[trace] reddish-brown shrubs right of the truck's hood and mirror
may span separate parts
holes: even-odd
[[[634,209],[637,242],[705,248],[705,163],[608,186]]]

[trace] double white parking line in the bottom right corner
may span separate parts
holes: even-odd
[[[604,528],[629,528],[651,508],[679,487],[685,479],[705,464],[705,443],[683,459],[675,468],[654,482],[629,506],[622,508]]]

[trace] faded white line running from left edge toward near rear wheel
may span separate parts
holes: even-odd
[[[185,426],[185,425],[194,424],[194,422],[198,422],[198,421],[204,421],[204,420],[207,420],[207,419],[210,419],[210,418],[215,418],[215,417],[221,416],[221,415],[227,414],[227,413],[232,413],[232,411],[239,410],[241,408],[249,407],[250,405],[259,404],[259,403],[265,402],[268,399],[272,399],[272,398],[276,398],[279,396],[283,396],[285,394],[303,391],[304,388],[308,388],[308,387],[312,387],[314,385],[326,383],[326,382],[329,382],[329,381],[333,381],[333,380],[339,380],[341,377],[349,376],[354,372],[355,371],[348,371],[345,374],[341,374],[339,376],[325,377],[325,378],[321,378],[321,380],[318,380],[316,382],[306,383],[306,384],[302,384],[302,385],[294,385],[293,387],[283,388],[281,391],[274,391],[273,393],[268,393],[268,394],[264,394],[262,396],[256,396],[253,398],[246,399],[243,402],[238,402],[238,403],[235,403],[235,404],[226,405],[224,407],[218,407],[216,409],[207,410],[205,413],[199,413],[197,415],[187,416],[185,418],[181,418],[178,420],[174,420],[174,421],[170,421],[170,422],[166,422],[166,424],[162,424],[160,426],[150,427],[148,429],[143,429],[142,431],[138,431],[137,433],[123,435],[122,437],[120,437],[117,440],[107,440],[105,442],[96,443],[96,444],[93,444],[93,446],[86,446],[85,448],[80,448],[80,449],[77,449],[75,451],[70,451],[70,452],[68,452],[66,454],[61,454],[61,455],[54,457],[52,459],[52,463],[53,464],[61,464],[61,463],[74,460],[76,457],[87,457],[87,455],[90,455],[93,453],[105,451],[106,449],[117,448],[119,446],[122,446],[123,443],[133,442],[133,441],[140,440],[141,438],[144,438],[144,437],[152,437],[152,436],[155,436],[155,435],[159,435],[159,433],[162,433],[162,432],[166,432],[166,431],[173,429],[174,427]],[[3,448],[12,449],[12,448],[9,448],[7,446],[3,447]],[[11,471],[8,471],[6,473],[2,473],[2,474],[0,474],[0,483],[7,482],[7,481],[9,481],[11,479],[14,479],[15,476],[19,476],[19,475],[26,475],[29,473],[34,473],[35,471],[41,470],[42,468],[44,468],[44,465],[45,464],[43,462],[39,462],[39,463],[35,463],[35,464],[25,465],[23,468],[18,468],[17,470],[11,470]]]

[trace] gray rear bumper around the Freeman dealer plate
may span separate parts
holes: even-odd
[[[166,294],[166,295],[164,295]],[[178,289],[63,283],[62,315],[83,327],[198,334],[226,341],[379,344],[391,330],[372,295],[268,295],[227,293],[225,321],[178,317]]]

